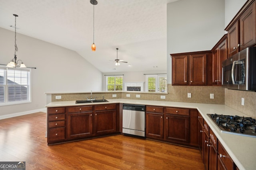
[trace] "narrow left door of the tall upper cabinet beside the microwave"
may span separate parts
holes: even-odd
[[[216,48],[212,53],[212,84],[218,85],[219,79],[219,49]]]

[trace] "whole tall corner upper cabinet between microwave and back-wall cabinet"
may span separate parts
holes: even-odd
[[[222,85],[222,62],[227,59],[227,40],[225,34],[212,49],[212,85]]]

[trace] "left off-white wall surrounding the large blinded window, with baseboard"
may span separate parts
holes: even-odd
[[[14,57],[14,32],[0,28],[0,37],[0,64],[8,64]],[[102,72],[75,51],[19,33],[16,43],[17,58],[28,67],[36,67],[32,69],[32,102],[0,106],[0,118],[1,115],[33,113],[45,109],[44,92],[102,90]]]

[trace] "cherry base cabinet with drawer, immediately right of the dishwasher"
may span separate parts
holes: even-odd
[[[146,106],[146,137],[164,139],[164,107]]]

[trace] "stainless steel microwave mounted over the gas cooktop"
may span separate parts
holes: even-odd
[[[256,91],[256,47],[248,47],[222,62],[222,87]]]

